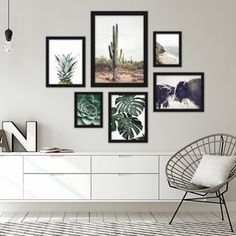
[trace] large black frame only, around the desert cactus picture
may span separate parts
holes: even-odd
[[[96,82],[96,17],[142,16],[143,17],[143,83]],[[108,49],[108,47],[107,47]],[[148,12],[147,11],[92,11],[91,12],[91,87],[147,87],[148,86]]]

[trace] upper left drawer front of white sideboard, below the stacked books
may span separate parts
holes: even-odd
[[[90,156],[27,156],[24,173],[90,173]]]

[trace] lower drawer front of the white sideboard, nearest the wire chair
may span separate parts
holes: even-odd
[[[92,198],[157,200],[157,174],[93,174]]]

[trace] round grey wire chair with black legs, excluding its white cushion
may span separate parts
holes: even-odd
[[[236,137],[223,133],[206,136],[185,146],[175,153],[175,155],[167,162],[166,176],[169,186],[185,191],[185,194],[169,224],[174,220],[184,201],[214,203],[220,205],[222,220],[224,220],[223,206],[225,207],[230,229],[233,232],[233,226],[226,206],[224,194],[228,191],[229,182],[236,177],[236,164],[232,167],[227,181],[221,185],[215,187],[197,186],[190,181],[202,159],[203,154],[219,156],[236,155]],[[188,193],[196,194],[199,197],[186,198]],[[214,194],[214,196],[209,196],[208,194]]]

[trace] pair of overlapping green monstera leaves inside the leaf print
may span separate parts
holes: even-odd
[[[145,108],[145,96],[135,94],[118,96],[111,108],[111,132],[118,131],[127,141],[145,140],[144,125],[140,119]]]

